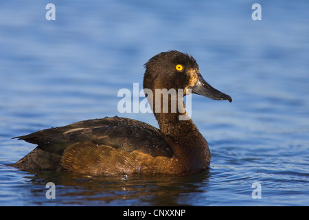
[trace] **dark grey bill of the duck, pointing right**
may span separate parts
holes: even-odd
[[[211,85],[209,85],[206,80],[204,80],[201,74],[198,74],[198,81],[194,87],[191,87],[191,89],[192,94],[198,94],[213,100],[229,100],[229,102],[232,101],[231,96],[228,96],[227,94],[218,91],[214,87],[211,87]]]

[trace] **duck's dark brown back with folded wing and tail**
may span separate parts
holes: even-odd
[[[126,152],[140,151],[152,157],[173,155],[172,148],[164,141],[159,129],[117,116],[84,120],[17,138],[38,145],[34,151],[16,162],[15,166],[22,169],[60,169],[65,149],[72,144],[82,143],[92,143],[93,147],[111,146]]]

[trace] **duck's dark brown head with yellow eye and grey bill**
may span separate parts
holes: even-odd
[[[162,52],[145,64],[144,89],[183,89],[183,96],[198,94],[213,100],[229,100],[227,94],[211,87],[200,74],[192,56],[176,50]]]

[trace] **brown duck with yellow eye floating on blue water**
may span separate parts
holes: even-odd
[[[188,116],[181,97],[198,94],[232,102],[231,96],[211,87],[189,54],[161,52],[144,67],[143,87],[144,91],[152,91],[145,94],[159,129],[115,116],[36,131],[13,137],[37,145],[14,166],[88,175],[183,176],[206,170],[211,159],[207,141]],[[168,95],[163,100],[162,94],[155,93],[157,89],[174,89],[176,96]],[[171,111],[174,100],[178,108]],[[166,103],[170,108],[163,111]]]

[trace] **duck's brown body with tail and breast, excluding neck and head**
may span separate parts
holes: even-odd
[[[117,116],[37,131],[18,137],[38,146],[15,166],[101,175],[198,173],[209,164],[209,148],[194,124],[185,123],[192,133],[179,133],[176,140],[150,124]]]

